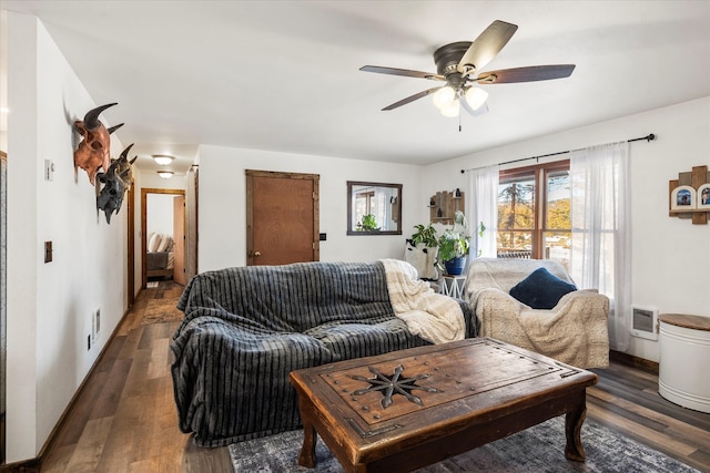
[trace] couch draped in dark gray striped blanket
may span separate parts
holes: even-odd
[[[460,305],[475,337],[473,310]],[[202,273],[178,308],[174,395],[180,429],[200,446],[301,426],[293,370],[428,345],[395,317],[379,261]]]

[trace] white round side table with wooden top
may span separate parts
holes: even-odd
[[[683,408],[710,413],[710,317],[662,313],[658,393]]]

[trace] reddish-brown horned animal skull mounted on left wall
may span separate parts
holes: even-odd
[[[111,165],[111,133],[123,126],[111,126],[106,128],[99,120],[101,112],[116,103],[97,106],[84,115],[84,120],[74,122],[74,128],[83,137],[74,151],[74,166],[81,167],[89,174],[89,182],[93,185],[99,168],[108,172]]]

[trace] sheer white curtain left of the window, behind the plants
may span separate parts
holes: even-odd
[[[471,232],[470,255],[496,257],[498,233],[498,166],[471,169],[466,193],[468,226]],[[486,230],[479,235],[480,224]]]

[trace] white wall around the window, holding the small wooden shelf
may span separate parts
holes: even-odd
[[[424,195],[466,186],[462,168],[655,133],[630,145],[633,233],[632,304],[660,313],[710,317],[710,224],[668,216],[668,182],[692,166],[710,166],[710,97],[488,150],[427,166]],[[565,158],[565,155],[560,156]],[[521,163],[525,164],[525,163]],[[508,166],[509,167],[509,166]],[[658,342],[631,337],[629,353],[658,361]]]

